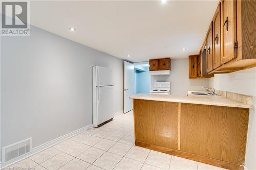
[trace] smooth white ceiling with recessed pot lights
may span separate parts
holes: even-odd
[[[132,62],[185,58],[199,53],[217,5],[218,1],[31,1],[31,24]],[[76,31],[70,32],[70,27]]]

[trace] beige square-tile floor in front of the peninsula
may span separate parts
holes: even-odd
[[[221,170],[223,168],[136,147],[133,112],[92,128],[20,161],[11,167],[35,170]]]

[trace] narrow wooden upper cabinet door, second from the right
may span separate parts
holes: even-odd
[[[213,55],[214,55],[214,69],[221,66],[221,4],[215,12],[214,19],[212,20],[213,28]]]

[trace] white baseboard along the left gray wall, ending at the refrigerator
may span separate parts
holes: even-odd
[[[85,127],[77,129],[77,130],[75,130],[73,132],[70,132],[70,133],[68,133],[66,135],[60,136],[60,137],[58,137],[56,139],[53,139],[53,140],[48,141],[48,142],[46,142],[44,144],[41,144],[41,145],[39,145],[39,146],[37,146],[35,148],[32,148],[32,151],[30,151],[30,152],[28,152],[28,153],[26,153],[26,154],[24,154],[22,156],[19,156],[19,157],[13,159],[13,160],[10,160],[8,162],[3,162],[3,164],[0,162],[0,167],[4,168],[4,167],[10,166],[12,164],[15,164],[15,163],[17,163],[17,162],[19,162],[19,161],[21,161],[23,159],[26,159],[28,157],[31,157],[32,155],[37,154],[38,152],[46,150],[46,149],[52,147],[53,145],[55,145],[55,144],[57,144],[59,142],[67,140],[68,138],[71,138],[71,137],[81,133],[82,131],[86,131],[88,129],[91,129],[92,127],[93,127],[93,124],[87,125]]]

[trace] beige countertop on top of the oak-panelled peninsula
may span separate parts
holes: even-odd
[[[168,95],[168,94],[146,94],[139,93],[130,96],[131,99],[152,100],[152,101],[164,101],[164,102],[177,102],[177,103],[191,103],[201,105],[214,105],[214,106],[227,106],[227,107],[239,107],[250,108],[253,106],[243,104],[224,96],[202,96],[202,95]]]

